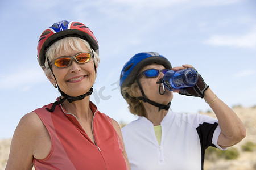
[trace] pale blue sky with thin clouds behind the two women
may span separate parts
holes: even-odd
[[[38,65],[36,46],[60,20],[82,22],[97,37],[101,62],[90,99],[118,122],[136,118],[119,92],[121,69],[145,51],[166,56],[172,66],[195,66],[230,107],[256,105],[255,8],[254,0],[1,1],[0,139],[13,135],[24,114],[59,96]],[[210,109],[203,99],[179,94],[171,108]]]

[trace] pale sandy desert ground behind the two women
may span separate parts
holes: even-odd
[[[251,141],[256,144],[256,107],[244,108],[244,107],[234,107],[233,110],[237,113],[238,117],[241,118],[243,124],[245,124],[247,135],[236,147],[240,151],[240,156],[234,160],[225,159],[214,159],[205,160],[204,169],[205,170],[256,170],[256,147],[253,151],[242,151],[241,146],[247,141]],[[215,117],[214,113],[207,112],[201,113],[207,114],[209,116]],[[7,159],[10,151],[11,139],[3,139],[0,141],[0,169],[5,169]]]

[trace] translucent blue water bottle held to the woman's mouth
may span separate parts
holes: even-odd
[[[197,83],[198,75],[193,69],[169,70],[163,76],[164,87],[173,91],[174,89],[192,87]]]

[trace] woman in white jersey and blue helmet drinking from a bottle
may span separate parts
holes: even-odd
[[[240,118],[210,90],[199,73],[195,86],[173,92],[203,98],[217,119],[170,109],[173,92],[159,82],[168,70],[188,68],[192,66],[172,68],[168,59],[156,52],[138,53],[123,66],[121,93],[130,112],[139,116],[122,128],[131,169],[203,169],[207,147],[225,150],[245,137]]]

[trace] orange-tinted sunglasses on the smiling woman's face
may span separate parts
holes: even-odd
[[[72,59],[75,59],[75,61],[77,63],[86,63],[86,62],[90,61],[90,58],[92,58],[92,55],[90,53],[82,52],[82,53],[76,54],[76,56],[72,56],[72,57],[56,58],[52,62],[52,64],[54,64],[56,67],[59,67],[59,68],[65,68],[70,65]]]

